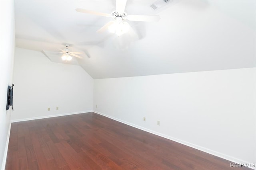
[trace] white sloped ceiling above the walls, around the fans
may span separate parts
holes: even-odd
[[[71,44],[92,78],[114,78],[256,66],[255,0],[172,1],[158,11],[156,0],[128,0],[126,13],[159,15],[157,23],[128,21],[136,36],[96,33],[111,18],[112,0],[16,0],[16,47],[58,51]],[[47,54],[54,62],[60,56]],[[87,57],[88,56],[88,57]]]

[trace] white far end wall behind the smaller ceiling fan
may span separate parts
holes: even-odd
[[[16,48],[13,82],[12,121],[92,110],[93,79],[80,66],[53,63],[41,52]]]

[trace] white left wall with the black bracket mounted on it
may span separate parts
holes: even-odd
[[[11,109],[6,111],[7,87],[12,84],[15,48],[14,1],[0,1],[0,168],[4,169]]]

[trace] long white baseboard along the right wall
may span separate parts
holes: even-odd
[[[186,142],[186,141],[182,141],[182,140],[180,140],[180,139],[176,139],[176,138],[174,138],[174,137],[170,137],[170,136],[168,136],[168,135],[164,135],[164,134],[158,133],[158,132],[156,132],[156,131],[152,131],[152,130],[150,130],[150,129],[147,129],[147,128],[144,128],[144,127],[135,125],[135,124],[130,123],[130,122],[127,122],[127,121],[123,121],[123,120],[118,119],[118,118],[116,118],[116,117],[112,117],[112,116],[106,115],[106,114],[104,114],[104,113],[100,113],[100,112],[98,112],[98,111],[94,111],[94,110],[93,110],[92,112],[97,113],[97,114],[99,114],[99,115],[103,115],[103,116],[108,117],[108,118],[110,118],[110,119],[119,121],[119,122],[124,123],[124,124],[126,124],[126,125],[135,127],[135,128],[137,128],[137,129],[140,129],[140,130],[143,130],[143,131],[152,133],[152,134],[154,134],[154,135],[158,135],[158,136],[160,136],[160,137],[164,137],[164,138],[166,138],[166,139],[170,139],[170,140],[172,140],[172,141],[181,143],[181,144],[186,145],[186,146],[188,146],[188,147],[192,147],[192,148],[194,148],[194,149],[201,150],[201,151],[206,152],[206,153],[208,153],[208,154],[212,154],[212,155],[214,155],[214,156],[218,156],[218,157],[220,157],[220,158],[229,160],[229,161],[234,162],[234,163],[237,163],[237,164],[251,164],[251,165],[252,165],[252,162],[249,163],[249,162],[246,162],[246,161],[244,161],[244,160],[240,160],[240,159],[238,159],[238,158],[234,158],[234,157],[232,157],[232,156],[229,156],[229,155],[226,155],[226,154],[222,154],[222,153],[220,153],[220,152],[216,152],[216,151],[211,150],[211,149],[207,149],[207,148],[204,148],[204,147],[200,147],[200,146],[198,146],[198,145],[195,145],[195,144],[192,144],[192,143],[189,143],[189,142]],[[255,169],[255,170],[256,170],[256,167],[254,167],[254,168],[252,168],[252,169]]]

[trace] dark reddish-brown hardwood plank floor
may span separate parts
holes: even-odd
[[[96,113],[12,123],[6,170],[241,170]]]

